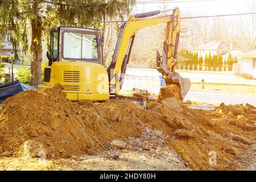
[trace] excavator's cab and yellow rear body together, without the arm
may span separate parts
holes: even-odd
[[[109,79],[102,60],[99,30],[53,28],[47,57],[49,64],[44,69],[40,90],[59,83],[72,101],[109,99]]]

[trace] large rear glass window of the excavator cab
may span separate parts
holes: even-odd
[[[68,59],[98,59],[95,34],[64,32],[63,56]]]

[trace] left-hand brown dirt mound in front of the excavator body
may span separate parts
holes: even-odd
[[[71,102],[60,85],[46,92],[31,89],[16,94],[1,105],[2,153],[10,156],[29,152],[33,157],[45,152],[47,158],[67,158],[95,154],[112,139],[135,137],[141,131],[135,116],[137,108],[119,102]]]

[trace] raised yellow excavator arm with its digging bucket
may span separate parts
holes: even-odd
[[[177,47],[180,35],[180,10],[178,8],[169,10],[171,15],[164,15],[154,18],[148,18],[162,13],[161,11],[152,11],[130,16],[122,24],[119,31],[117,44],[115,46],[112,63],[108,67],[110,97],[116,97],[125,78],[126,66],[129,63],[131,49],[134,38],[138,30],[145,27],[154,26],[160,23],[167,23],[166,40],[164,41],[162,56],[156,53],[156,69],[162,73],[163,78],[168,84],[179,84],[181,88],[181,100],[190,88],[188,78],[182,78],[179,73],[175,72]]]

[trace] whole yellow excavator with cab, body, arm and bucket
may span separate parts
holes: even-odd
[[[79,27],[53,28],[50,53],[47,52],[49,65],[44,69],[44,83],[39,85],[39,89],[45,90],[59,83],[63,85],[64,92],[71,101],[104,101],[117,98],[125,79],[126,66],[137,31],[155,24],[167,23],[162,56],[156,52],[156,69],[162,73],[167,85],[180,86],[180,100],[183,100],[191,82],[175,72],[180,36],[180,10],[175,8],[168,11],[172,11],[172,14],[161,16],[163,11],[151,11],[130,16],[121,26],[113,59],[108,68],[105,68],[102,60],[99,30]]]

